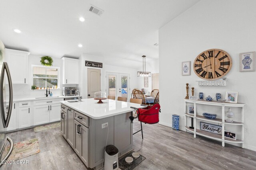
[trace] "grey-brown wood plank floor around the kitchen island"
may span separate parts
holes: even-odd
[[[256,152],[170,127],[142,124],[133,135],[134,151],[146,157],[134,170],[256,170]],[[134,121],[134,131],[140,123]],[[41,152],[22,160],[27,165],[8,165],[8,170],[86,170],[82,161],[60,133],[60,128],[34,132],[34,129],[9,133],[14,143],[37,137]]]

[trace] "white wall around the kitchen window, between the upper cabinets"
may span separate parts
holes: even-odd
[[[28,84],[13,84],[14,99],[29,98],[29,97],[44,97],[46,90],[31,90],[33,85],[32,79],[32,65],[42,65],[40,63],[41,55],[28,56]],[[62,60],[60,58],[52,57],[52,66],[60,67],[60,89],[51,89],[53,96],[62,96],[62,86],[76,86],[76,85],[62,85]]]

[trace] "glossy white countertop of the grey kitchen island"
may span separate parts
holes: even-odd
[[[130,108],[142,108],[140,104],[134,104],[130,102],[121,102],[118,100],[102,100],[103,104],[98,104],[98,100],[91,99],[82,99],[82,102],[70,103],[68,101],[60,101],[62,104],[74,109],[84,115],[91,117],[92,119],[102,119],[105,117],[110,117],[114,115],[119,115],[122,113],[127,113],[133,111],[134,109]]]

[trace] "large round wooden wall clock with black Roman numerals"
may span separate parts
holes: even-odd
[[[220,49],[209,49],[200,53],[193,64],[196,75],[205,80],[216,80],[225,76],[231,66],[230,55]]]

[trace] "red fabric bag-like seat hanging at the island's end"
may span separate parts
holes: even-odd
[[[138,120],[143,123],[155,124],[159,122],[160,104],[138,109]]]

